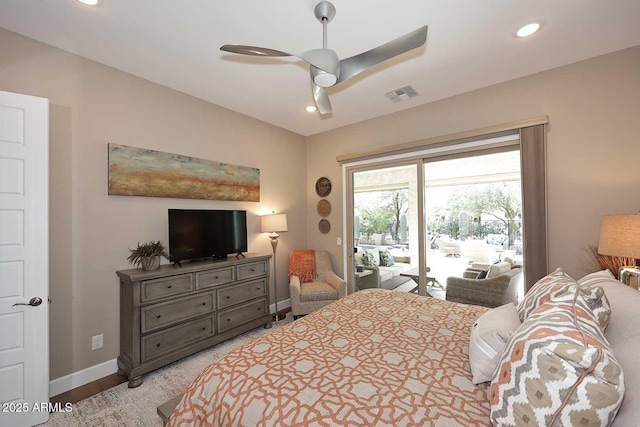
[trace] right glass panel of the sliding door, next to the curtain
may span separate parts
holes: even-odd
[[[440,283],[497,261],[522,266],[518,146],[425,159],[424,178],[426,258]]]

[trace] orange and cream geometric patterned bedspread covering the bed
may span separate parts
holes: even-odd
[[[356,292],[210,365],[169,426],[491,425],[468,361],[486,310]]]

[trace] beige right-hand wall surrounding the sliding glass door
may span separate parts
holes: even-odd
[[[309,137],[309,242],[326,246],[342,271],[336,155],[548,115],[549,267],[581,277],[601,216],[640,209],[638,76],[640,46]],[[336,192],[328,235],[318,233],[312,214],[313,184],[322,175],[332,178]]]

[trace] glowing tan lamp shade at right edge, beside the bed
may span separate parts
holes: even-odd
[[[600,225],[598,253],[640,258],[640,215],[605,215]]]

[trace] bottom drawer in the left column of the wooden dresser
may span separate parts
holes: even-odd
[[[214,331],[214,318],[210,316],[142,337],[141,362],[162,356],[201,339],[212,337]]]

